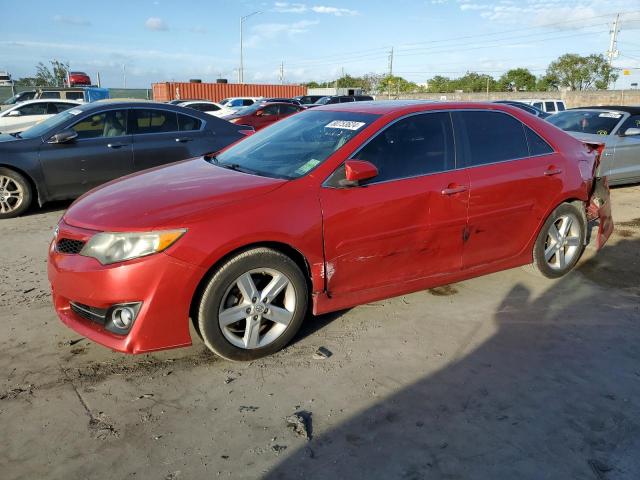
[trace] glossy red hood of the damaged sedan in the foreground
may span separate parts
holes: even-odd
[[[69,225],[99,231],[178,228],[210,217],[215,208],[263,195],[286,180],[186,160],[107,183],[69,208]]]

